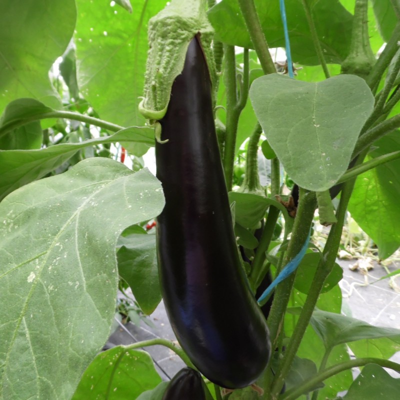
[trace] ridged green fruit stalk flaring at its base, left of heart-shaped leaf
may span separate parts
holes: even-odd
[[[257,122],[247,144],[246,169],[243,183],[238,191],[245,193],[264,194],[258,176],[258,142],[262,128]]]

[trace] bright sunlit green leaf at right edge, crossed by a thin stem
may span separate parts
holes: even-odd
[[[399,131],[374,142],[367,159],[400,149]],[[400,245],[400,160],[393,160],[360,174],[348,204],[358,225],[377,244],[379,258],[390,256]]]

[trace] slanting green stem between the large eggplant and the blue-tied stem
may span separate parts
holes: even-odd
[[[251,263],[251,272],[248,277],[254,290],[257,289],[265,275],[265,270],[263,269],[265,252],[268,250],[269,243],[271,242],[273,230],[275,228],[278,216],[279,210],[276,207],[270,206],[268,209],[268,216],[266,217],[265,221],[265,227],[259,239],[257,251],[255,252],[254,259]]]

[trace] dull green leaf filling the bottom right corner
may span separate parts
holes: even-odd
[[[348,388],[343,400],[397,400],[398,393],[400,379],[391,377],[380,365],[366,364]]]

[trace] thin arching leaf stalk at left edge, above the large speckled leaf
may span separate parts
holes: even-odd
[[[75,121],[86,122],[103,129],[111,130],[112,132],[124,129],[123,126],[119,126],[114,123],[104,121],[102,119],[94,118],[92,116],[79,114],[78,112],[54,110],[49,112],[42,112],[36,115],[31,115],[24,119],[18,119],[16,121],[6,123],[5,125],[0,127],[0,137],[9,132],[10,130],[13,130],[19,126],[23,126],[26,123],[36,121],[38,119],[47,119],[47,118],[74,119]]]

